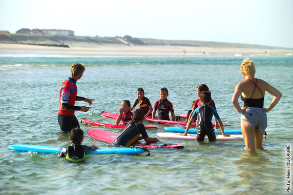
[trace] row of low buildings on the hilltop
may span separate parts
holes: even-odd
[[[58,29],[38,29],[35,28],[30,30],[28,28],[21,28],[21,30],[16,31],[17,34],[50,34],[50,35],[60,35],[60,36],[74,36],[74,31],[72,30],[58,30]]]

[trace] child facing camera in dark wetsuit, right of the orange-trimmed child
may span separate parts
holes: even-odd
[[[166,87],[161,88],[160,97],[161,99],[155,102],[154,111],[152,113],[152,118],[156,117],[156,111],[158,110],[158,119],[170,120],[169,112],[171,112],[172,121],[175,121],[173,104],[167,100],[169,96]]]

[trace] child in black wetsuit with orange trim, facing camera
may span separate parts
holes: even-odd
[[[133,106],[130,108],[132,111],[136,105],[138,105],[145,113],[145,117],[151,115],[153,109],[148,98],[145,97],[145,91],[143,88],[138,88],[136,91],[137,99],[135,100]]]

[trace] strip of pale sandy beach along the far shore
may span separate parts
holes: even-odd
[[[241,56],[241,55],[292,55],[293,49],[255,49],[255,48],[209,48],[190,46],[129,46],[129,45],[69,45],[70,48],[37,46],[26,44],[0,43],[3,54],[42,54],[69,56]]]

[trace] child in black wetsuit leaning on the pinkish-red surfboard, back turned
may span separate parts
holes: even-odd
[[[128,122],[122,134],[113,141],[114,145],[130,146],[138,140],[145,139],[146,143],[159,142],[156,137],[148,137],[144,121],[144,111],[140,108],[133,112],[133,120]],[[142,135],[142,136],[140,136]]]

